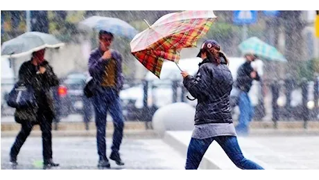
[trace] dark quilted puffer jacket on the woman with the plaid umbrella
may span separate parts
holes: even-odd
[[[230,91],[233,79],[225,63],[216,65],[205,59],[199,64],[197,75],[187,76],[183,83],[191,96],[198,99],[195,125],[232,123]]]

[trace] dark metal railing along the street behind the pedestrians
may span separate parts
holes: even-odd
[[[61,82],[63,80],[61,79]],[[6,105],[6,94],[10,92],[15,80],[1,80],[1,116],[13,116],[14,109]],[[84,84],[82,84],[84,86]],[[285,80],[264,80],[261,84],[262,96],[259,99],[258,105],[255,107],[254,120],[262,121],[265,117],[271,118],[274,122],[274,127],[277,127],[279,121],[299,121],[304,122],[304,128],[307,128],[309,120],[318,120],[319,112],[319,78],[314,78],[313,81],[293,80],[286,78]],[[133,89],[137,91],[133,91]],[[83,91],[81,86],[78,89]],[[129,91],[132,91],[131,94]],[[146,128],[151,128],[153,114],[160,107],[174,103],[187,102],[195,107],[196,102],[187,100],[187,90],[182,86],[181,80],[134,80],[126,82],[121,95],[126,93],[126,96],[121,96],[123,101],[123,114],[126,120],[139,120],[146,122]],[[142,93],[142,94],[139,94]],[[58,118],[55,123],[62,122],[59,108],[69,106],[63,104],[58,95],[58,87],[53,89],[55,95],[55,103],[57,103],[56,111]],[[139,95],[139,96],[137,96]],[[83,96],[84,97],[84,96]],[[83,112],[83,122],[87,121],[86,116],[92,119],[94,109],[91,101],[82,98],[83,105],[89,103],[89,113]],[[60,103],[60,104],[59,104]],[[62,103],[62,104],[61,104]],[[81,111],[81,110],[80,110]]]

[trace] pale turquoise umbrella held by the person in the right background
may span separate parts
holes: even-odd
[[[250,37],[239,44],[239,49],[244,53],[254,53],[266,60],[273,60],[279,62],[287,62],[282,53],[277,51],[273,46],[270,46],[266,42],[261,41],[258,37]]]

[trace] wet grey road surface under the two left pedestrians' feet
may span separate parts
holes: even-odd
[[[12,170],[9,163],[10,147],[15,138],[1,139],[1,170]],[[107,139],[107,155],[112,140]],[[110,160],[112,170],[182,171],[184,157],[161,139],[123,139],[121,157],[126,163],[119,166]],[[53,159],[60,163],[60,171],[96,171],[98,155],[93,137],[53,137]],[[29,137],[18,156],[18,171],[42,170],[42,140]]]

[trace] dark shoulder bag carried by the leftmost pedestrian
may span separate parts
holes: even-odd
[[[37,107],[33,87],[23,82],[17,82],[8,94],[7,104],[16,109]]]

